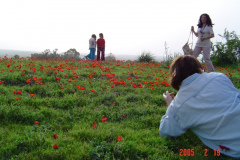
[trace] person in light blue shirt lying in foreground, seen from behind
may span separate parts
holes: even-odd
[[[205,73],[199,61],[179,56],[170,66],[170,84],[178,91],[163,97],[168,105],[159,127],[161,137],[192,130],[221,154],[240,158],[240,91],[223,73]]]

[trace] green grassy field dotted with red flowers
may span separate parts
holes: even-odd
[[[240,88],[240,69],[216,71]],[[160,137],[168,78],[164,63],[0,59],[0,159],[231,159],[191,131]]]

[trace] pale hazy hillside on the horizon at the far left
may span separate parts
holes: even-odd
[[[18,51],[18,50],[7,50],[7,49],[0,49],[0,57],[13,57],[14,55],[19,55],[20,57],[30,57],[32,53],[37,53],[35,51]]]

